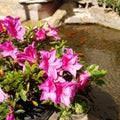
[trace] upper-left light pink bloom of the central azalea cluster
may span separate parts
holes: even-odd
[[[49,77],[57,78],[57,70],[62,66],[60,59],[56,58],[56,50],[41,51],[42,61],[39,65]]]

